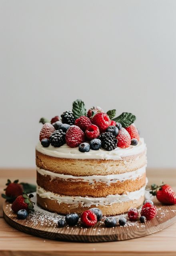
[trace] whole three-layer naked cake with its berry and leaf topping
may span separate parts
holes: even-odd
[[[51,122],[41,119],[36,145],[39,206],[60,214],[97,207],[110,216],[143,204],[146,144],[135,116],[125,112],[114,118],[113,111],[106,114],[96,107],[86,112],[84,102],[77,100],[72,111],[61,115],[64,124],[58,116]],[[96,150],[95,140],[101,144]]]

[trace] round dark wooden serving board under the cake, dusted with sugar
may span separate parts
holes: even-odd
[[[155,205],[158,214],[154,219],[144,224],[140,221],[127,221],[125,226],[117,224],[114,228],[106,228],[104,225],[105,217],[91,228],[82,226],[80,220],[74,227],[58,228],[58,219],[64,219],[64,216],[43,210],[37,205],[34,206],[35,212],[29,214],[25,220],[18,220],[16,214],[11,210],[11,204],[7,202],[3,205],[3,214],[6,222],[12,227],[34,236],[74,242],[109,242],[147,236],[176,222],[176,205],[164,206],[157,202]],[[117,223],[120,216],[122,215],[116,216]],[[123,216],[126,217],[125,214]]]

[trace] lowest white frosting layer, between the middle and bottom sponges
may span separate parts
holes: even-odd
[[[106,197],[82,197],[82,196],[62,196],[58,194],[54,194],[52,192],[47,192],[44,188],[37,187],[37,194],[41,198],[48,198],[51,200],[56,200],[58,204],[66,203],[69,204],[70,207],[90,207],[91,205],[111,205],[114,203],[122,203],[130,200],[138,200],[141,196],[145,194],[145,187],[140,188],[140,190],[136,190],[133,192],[126,192],[126,194],[116,194],[116,195],[108,195]]]

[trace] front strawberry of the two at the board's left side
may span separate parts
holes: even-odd
[[[23,192],[22,196],[18,196],[12,204],[12,210],[18,212],[19,210],[28,210],[34,212],[34,202],[30,200],[33,194],[29,196]]]

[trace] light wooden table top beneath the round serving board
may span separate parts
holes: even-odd
[[[176,170],[147,169],[149,183],[160,183],[162,180],[176,189]],[[0,194],[3,192],[7,178],[21,182],[35,183],[34,169],[0,169]],[[175,256],[176,223],[150,236],[126,241],[105,243],[77,243],[44,240],[22,233],[9,226],[2,216],[0,198],[0,256]]]

